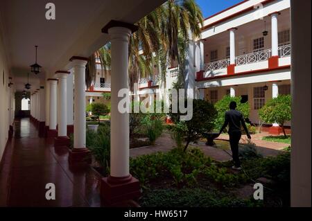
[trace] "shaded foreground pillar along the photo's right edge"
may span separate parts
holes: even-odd
[[[291,206],[311,207],[311,1],[291,0]]]

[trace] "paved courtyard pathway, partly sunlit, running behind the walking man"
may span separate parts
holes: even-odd
[[[261,134],[252,134],[252,142],[257,145],[257,150],[264,157],[276,156],[281,153],[281,150],[288,147],[287,143],[276,143],[271,141],[262,141],[263,136],[268,136],[268,132],[261,132]],[[228,140],[229,136],[227,134],[221,134],[218,139]],[[247,136],[243,135],[241,143],[245,143]],[[219,148],[214,148],[207,146],[205,142],[198,141],[198,143],[191,143],[191,147],[197,147],[205,153],[206,156],[211,157],[216,161],[229,161],[232,159],[231,150],[221,150]],[[175,147],[175,142],[171,139],[171,135],[168,133],[163,133],[154,146],[147,146],[141,148],[130,149],[130,157],[137,157],[145,154],[152,154],[154,152],[168,152]]]

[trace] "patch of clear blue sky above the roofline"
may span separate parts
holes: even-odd
[[[220,10],[229,8],[236,3],[243,0],[196,0],[200,8],[202,9],[202,15],[204,18],[214,15]]]

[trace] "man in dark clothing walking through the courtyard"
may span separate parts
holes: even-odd
[[[232,166],[232,168],[235,170],[241,170],[241,162],[239,161],[239,140],[241,139],[241,125],[243,126],[248,139],[251,139],[251,136],[245,125],[243,114],[241,114],[241,112],[237,111],[235,108],[236,102],[232,101],[229,104],[229,111],[225,113],[225,122],[221,127],[219,135],[223,132],[225,127],[229,125],[229,144],[231,145],[232,157],[234,161],[234,166]]]

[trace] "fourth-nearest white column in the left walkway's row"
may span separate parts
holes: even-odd
[[[57,85],[58,80],[49,79],[50,82],[50,103],[49,103],[49,130],[56,130],[57,123]]]

